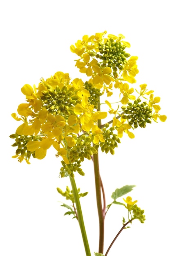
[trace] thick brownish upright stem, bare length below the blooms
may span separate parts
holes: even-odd
[[[94,177],[95,177],[95,184],[96,184],[96,202],[97,202],[98,219],[99,219],[98,252],[103,254],[105,209],[102,208],[101,177],[100,177],[100,171],[99,171],[98,153],[93,155],[93,163],[94,163]],[[103,194],[103,197],[104,197],[104,194]]]

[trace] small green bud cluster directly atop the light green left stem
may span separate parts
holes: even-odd
[[[72,178],[74,178],[74,172],[78,172],[80,175],[84,176],[85,173],[83,173],[81,166],[81,160],[75,161],[75,163],[72,164],[65,164],[64,161],[61,161],[61,164],[63,167],[60,168],[60,175],[61,177],[67,177],[70,175]]]

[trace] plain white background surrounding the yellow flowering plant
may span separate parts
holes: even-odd
[[[20,88],[38,85],[57,71],[81,77],[70,52],[70,45],[83,35],[107,30],[123,34],[131,43],[128,52],[139,56],[136,86],[147,83],[161,97],[165,123],[148,124],[127,136],[115,155],[100,155],[101,177],[107,204],[112,192],[126,184],[136,184],[130,194],[145,209],[146,221],[132,223],[121,233],[111,255],[170,255],[169,249],[169,7],[168,1],[2,1],[0,4],[0,255],[2,256],[84,256],[77,221],[63,216],[64,201],[56,187],[65,190],[69,179],[58,178],[60,160],[50,149],[43,160],[31,165],[18,163],[11,156],[9,135],[19,122],[11,117],[25,96]],[[91,252],[98,250],[98,217],[92,162],[83,164],[85,177],[76,175]],[[67,202],[66,202],[67,203]],[[113,206],[105,222],[105,249],[121,228],[121,206]],[[168,233],[167,233],[168,232]]]

